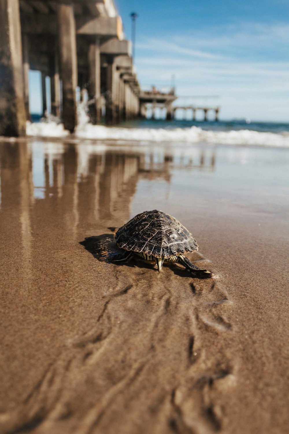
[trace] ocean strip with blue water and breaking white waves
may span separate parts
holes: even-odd
[[[70,135],[53,117],[48,117],[43,122],[37,115],[33,115],[32,119],[38,122],[27,123],[27,134],[30,136],[289,148],[289,123],[140,119],[107,127],[91,125],[85,108],[79,105],[78,126],[75,133]]]

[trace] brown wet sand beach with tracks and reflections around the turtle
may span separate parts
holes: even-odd
[[[0,433],[286,434],[288,162],[270,148],[2,141]],[[218,278],[84,247],[155,208]]]

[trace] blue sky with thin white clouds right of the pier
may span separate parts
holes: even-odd
[[[289,1],[115,0],[127,39],[136,21],[140,84],[220,95],[220,118],[289,122]],[[201,104],[204,100],[184,102]]]

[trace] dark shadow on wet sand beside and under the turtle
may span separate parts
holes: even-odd
[[[123,249],[117,247],[117,243],[115,242],[113,233],[103,233],[102,235],[86,237],[83,241],[80,241],[79,244],[81,244],[81,246],[84,246],[85,250],[91,253],[93,257],[100,262],[106,262],[117,266],[137,266],[138,268],[146,268],[148,270],[153,270],[154,268],[152,264],[148,264],[137,259],[132,259],[130,260],[130,262],[115,263],[114,256],[123,253]],[[169,268],[172,270],[173,273],[181,277],[191,277],[197,279],[208,279],[210,277],[207,275],[192,276],[190,275],[190,273],[188,273],[187,270],[185,270],[185,268],[182,269],[177,265],[170,266]]]

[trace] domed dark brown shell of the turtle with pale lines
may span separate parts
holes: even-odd
[[[118,247],[156,258],[198,250],[195,238],[175,217],[162,211],[144,211],[119,228]]]

